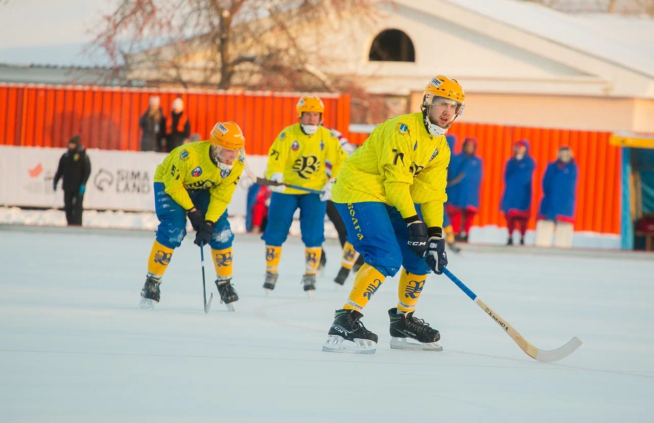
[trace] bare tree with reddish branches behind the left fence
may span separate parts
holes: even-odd
[[[370,0],[122,0],[92,45],[154,84],[339,91],[350,82],[320,72],[336,59],[320,31],[373,10]]]

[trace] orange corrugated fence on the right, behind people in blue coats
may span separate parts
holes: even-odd
[[[504,166],[511,157],[513,142],[525,138],[536,161],[529,228],[536,227],[545,167],[557,158],[560,146],[570,146],[579,166],[575,230],[620,233],[621,153],[619,147],[609,144],[610,133],[454,123],[449,134],[458,138],[456,153],[461,152],[466,136],[474,136],[479,142],[477,154],[484,161],[484,173],[479,190],[479,214],[473,225],[506,227],[500,212]],[[350,133],[349,140],[360,145],[366,138],[368,134]]]

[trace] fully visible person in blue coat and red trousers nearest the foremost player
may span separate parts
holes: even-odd
[[[447,183],[447,204],[445,211],[452,220],[456,239],[468,242],[472,220],[479,211],[479,187],[483,176],[483,160],[477,156],[477,138],[467,137],[462,152],[454,165],[450,163],[452,175],[456,177]]]

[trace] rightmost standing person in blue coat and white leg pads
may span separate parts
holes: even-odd
[[[547,164],[543,176],[543,199],[536,224],[536,245],[572,247],[578,168],[570,147],[559,148],[559,158]]]

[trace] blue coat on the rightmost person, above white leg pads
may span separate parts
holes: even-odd
[[[547,164],[543,176],[543,200],[539,219],[574,222],[577,204],[577,163],[553,161]]]

